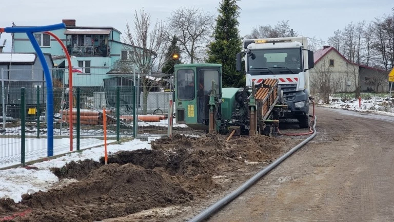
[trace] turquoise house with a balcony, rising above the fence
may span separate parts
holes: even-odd
[[[52,36],[34,33],[44,53],[50,53],[57,70],[53,78],[68,84],[68,66],[73,67],[73,86],[101,87],[104,79],[112,78],[111,66],[128,60],[130,51],[137,49],[121,42],[121,32],[113,27],[76,26],[75,20],[63,20],[65,29],[52,31],[62,40],[71,55],[68,64],[65,52]],[[35,52],[25,33],[14,33],[14,52]],[[151,58],[147,58],[151,60]]]

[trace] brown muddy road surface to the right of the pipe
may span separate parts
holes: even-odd
[[[316,115],[311,142],[208,221],[394,221],[394,117]]]

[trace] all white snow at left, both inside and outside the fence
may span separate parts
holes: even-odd
[[[162,120],[160,122],[147,122],[146,125],[153,126],[167,126],[167,120]],[[141,125],[141,122],[139,123]],[[175,127],[187,127],[185,124],[175,123],[173,121],[173,126]],[[12,135],[20,135],[20,127],[7,128],[7,132]],[[66,131],[63,131],[65,135]],[[57,131],[58,133],[58,131]],[[84,132],[86,134],[103,134],[103,130],[97,130],[93,132]],[[7,134],[7,133],[6,133]],[[36,135],[36,130],[31,129],[28,134]],[[56,135],[56,132],[55,132]],[[67,134],[66,134],[67,135]],[[81,135],[83,133],[81,132]],[[192,136],[192,135],[190,135]],[[132,151],[138,149],[151,149],[150,141],[157,139],[159,137],[148,137],[148,141],[142,141],[140,139],[133,139],[131,141],[123,142],[122,144],[107,145],[108,153],[115,153],[118,151]],[[107,140],[107,142],[112,142],[113,140]],[[19,143],[19,145],[15,145]],[[6,155],[15,155],[15,162],[9,162],[8,164],[2,164],[1,167],[7,167],[8,165],[13,165],[20,163],[20,143],[21,140],[18,138],[2,138],[0,139],[0,160]],[[37,159],[37,150],[32,147],[46,147],[46,139],[26,139],[26,161]],[[92,147],[94,145],[103,145],[104,141],[101,139],[89,138],[81,140],[81,149]],[[76,140],[74,141],[76,144]],[[64,147],[63,147],[64,146]],[[12,147],[16,147],[15,150]],[[54,155],[66,153],[69,149],[69,139],[55,139],[54,140]],[[41,154],[40,157],[45,157],[46,149],[40,150],[38,153]],[[29,154],[34,154],[34,158],[30,157]],[[45,191],[51,188],[54,184],[58,182],[57,177],[51,173],[51,168],[61,168],[66,163],[77,160],[92,159],[99,161],[100,157],[104,156],[104,146],[94,147],[92,149],[84,150],[80,153],[68,153],[65,156],[58,157],[53,160],[47,160],[44,162],[35,163],[29,165],[29,167],[37,168],[38,170],[25,168],[16,168],[9,170],[0,171],[0,198],[10,197],[15,202],[21,201],[21,195],[24,193],[34,193],[39,190]],[[3,161],[3,160],[1,160]]]

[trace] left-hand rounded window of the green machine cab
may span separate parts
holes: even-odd
[[[178,89],[178,99],[194,99],[194,71],[192,69],[180,69],[176,72],[176,87]]]

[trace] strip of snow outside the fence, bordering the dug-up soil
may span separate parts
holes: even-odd
[[[134,139],[122,144],[108,145],[107,150],[109,153],[115,153],[117,151],[151,149],[149,143],[154,139],[157,138],[151,137],[148,138],[148,141]],[[0,198],[9,197],[15,202],[19,202],[22,200],[22,194],[31,194],[39,190],[45,191],[58,182],[57,177],[51,173],[51,168],[61,168],[66,163],[77,160],[92,159],[99,161],[102,156],[104,156],[104,146],[29,165],[29,167],[39,170],[27,170],[25,168],[2,170],[0,171],[0,178],[2,178],[0,180]]]

